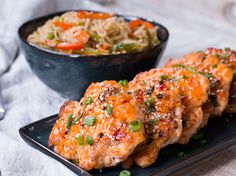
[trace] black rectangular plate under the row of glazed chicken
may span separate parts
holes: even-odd
[[[20,135],[29,145],[58,160],[78,175],[119,175],[119,172],[123,170],[121,167],[86,172],[49,148],[47,145],[48,137],[56,120],[57,115],[54,115],[29,124],[19,130]],[[187,165],[236,144],[236,114],[210,119],[207,127],[202,129],[200,133],[204,134],[203,139],[192,139],[187,145],[170,145],[161,150],[158,160],[153,165],[145,169],[134,165],[129,171],[131,171],[134,176],[169,175]]]

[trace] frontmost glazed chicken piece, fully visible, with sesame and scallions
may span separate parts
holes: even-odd
[[[80,102],[61,107],[49,146],[85,170],[115,166],[145,141],[143,117],[122,85],[92,83]]]

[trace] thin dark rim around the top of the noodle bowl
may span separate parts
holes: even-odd
[[[98,55],[98,56],[94,56],[94,55],[80,55],[80,54],[65,54],[63,52],[58,52],[58,51],[54,51],[54,50],[50,50],[50,49],[45,49],[45,48],[42,48],[40,46],[37,46],[37,45],[33,45],[33,44],[30,44],[29,42],[27,42],[27,37],[23,37],[23,31],[24,29],[36,22],[36,21],[42,21],[42,20],[48,20],[50,18],[53,18],[55,16],[58,16],[58,15],[61,15],[65,12],[69,12],[69,11],[88,11],[88,12],[98,12],[98,13],[107,13],[107,12],[103,12],[103,11],[96,11],[96,10],[87,10],[87,9],[68,9],[68,10],[63,10],[63,11],[57,11],[57,12],[53,12],[53,13],[49,13],[49,14],[46,14],[46,15],[43,15],[43,16],[39,16],[37,18],[33,18],[33,19],[30,19],[26,22],[24,22],[22,25],[20,25],[20,27],[18,28],[18,36],[21,40],[21,42],[23,42],[24,44],[26,44],[27,46],[29,46],[30,48],[33,48],[33,49],[36,49],[36,50],[39,50],[41,52],[45,52],[47,54],[53,54],[53,55],[56,55],[56,56],[59,56],[59,57],[67,57],[68,59],[73,59],[75,60],[75,58],[79,58],[79,59],[76,59],[76,60],[82,60],[82,59],[85,59],[85,60],[94,60],[94,59],[101,59],[101,58],[118,58],[118,57],[127,57],[127,56],[130,56],[130,55],[138,55],[138,54],[142,54],[144,52],[149,52],[149,51],[152,51],[152,50],[155,50],[157,48],[160,48],[161,46],[165,45],[169,39],[169,31],[168,29],[163,26],[162,24],[160,24],[159,22],[156,22],[150,18],[144,18],[144,17],[139,17],[139,16],[134,16],[134,15],[124,15],[124,14],[119,14],[119,13],[115,13],[115,16],[117,17],[123,17],[125,20],[132,20],[132,19],[141,19],[141,20],[144,20],[144,21],[148,21],[148,22],[151,22],[152,24],[154,24],[155,26],[159,26],[159,28],[161,28],[162,30],[165,31],[166,33],[166,37],[164,38],[164,40],[160,40],[160,44],[154,46],[154,47],[151,47],[151,48],[148,48],[148,49],[144,49],[142,51],[138,51],[138,52],[132,52],[132,53],[121,53],[121,54],[107,54],[107,55]],[[110,12],[108,12],[110,13]],[[37,26],[39,27],[39,26]],[[157,35],[158,35],[158,32],[157,32]]]

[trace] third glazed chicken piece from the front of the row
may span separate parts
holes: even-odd
[[[192,71],[182,68],[165,68],[165,75],[174,81],[179,89],[183,112],[183,132],[179,143],[187,144],[190,138],[198,131],[203,123],[202,105],[208,99],[209,80]]]

